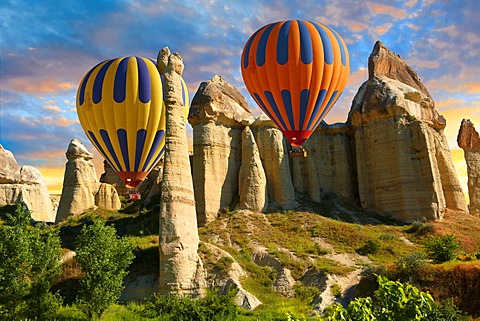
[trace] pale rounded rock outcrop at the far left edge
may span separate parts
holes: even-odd
[[[54,222],[55,212],[40,171],[19,166],[13,154],[0,145],[0,206],[24,203],[35,221]]]

